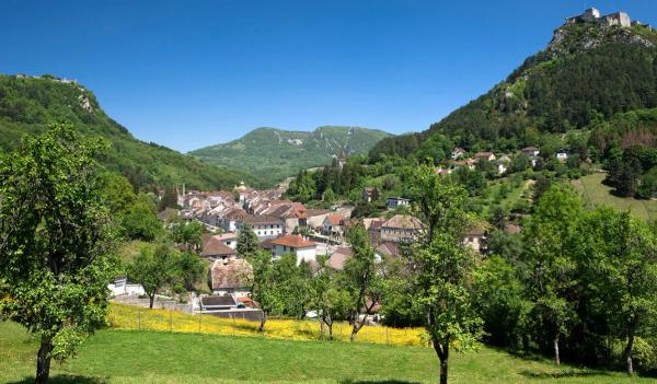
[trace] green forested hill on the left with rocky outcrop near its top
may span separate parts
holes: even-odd
[[[71,123],[83,136],[107,139],[112,148],[103,159],[106,167],[145,190],[182,183],[192,188],[230,187],[244,178],[137,140],[101,109],[91,91],[76,82],[50,75],[0,75],[0,151],[12,150],[23,136],[42,132],[55,121]]]

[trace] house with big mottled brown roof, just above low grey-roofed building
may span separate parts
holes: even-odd
[[[210,288],[215,294],[230,294],[235,298],[249,294],[249,278],[253,268],[242,258],[215,260],[210,267]]]

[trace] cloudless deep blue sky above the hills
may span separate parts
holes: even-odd
[[[426,129],[596,7],[657,1],[3,0],[0,72],[92,90],[137,138],[188,151],[256,127]]]

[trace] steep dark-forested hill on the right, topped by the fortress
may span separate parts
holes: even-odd
[[[541,136],[590,128],[629,110],[657,107],[657,32],[577,21],[558,27],[489,92],[420,133],[382,140],[372,160],[397,154],[440,160],[440,133],[466,150],[514,151]],[[655,129],[652,130],[655,138]]]

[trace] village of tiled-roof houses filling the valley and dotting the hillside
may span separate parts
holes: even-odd
[[[525,160],[529,167],[537,167],[545,161],[539,156],[540,153],[537,147],[523,148],[517,154],[498,156],[493,152],[468,153],[462,148],[456,148],[450,160],[436,165],[435,172],[442,176],[461,167],[469,171],[485,167],[504,175],[517,159]],[[561,149],[553,156],[557,162],[565,162],[568,150]],[[338,165],[343,162],[342,158],[337,159]],[[252,266],[238,252],[238,238],[242,231],[253,231],[260,248],[270,254],[273,260],[292,254],[297,265],[307,263],[316,271],[318,258],[322,256],[327,258],[326,263],[332,269],[339,271],[353,256],[351,246],[346,238],[349,228],[362,225],[367,230],[369,243],[376,249],[377,263],[385,258],[403,257],[403,244],[412,243],[422,230],[422,223],[407,213],[411,200],[405,197],[385,197],[388,212],[380,217],[351,218],[354,207],[348,203],[336,203],[331,209],[307,208],[301,202],[284,198],[285,191],[285,184],[276,188],[257,189],[243,182],[232,190],[185,190],[184,185],[180,190],[176,189],[180,209],[166,209],[159,214],[160,219],[165,221],[173,214],[185,223],[199,222],[204,225],[200,257],[209,264],[207,282],[211,292],[191,292],[188,304],[177,305],[176,309],[189,313],[260,321],[262,311],[251,299],[249,289]],[[365,187],[361,199],[370,202],[380,198],[378,194],[376,188]],[[397,211],[405,213],[396,213]],[[483,253],[489,225],[485,221],[477,223],[465,233],[463,244],[477,254]],[[511,234],[519,233],[520,230],[518,224],[505,225],[505,231]],[[145,305],[145,301],[135,300],[135,296],[143,296],[143,288],[129,283],[126,277],[118,278],[110,284],[110,289],[115,300]],[[160,299],[162,307],[171,303],[166,296]],[[308,314],[309,317],[315,315]],[[370,314],[361,316],[369,316],[370,324],[377,324],[381,318],[377,316],[377,307]]]

